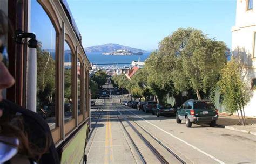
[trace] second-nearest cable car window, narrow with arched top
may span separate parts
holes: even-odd
[[[72,51],[69,45],[64,44],[64,116],[65,123],[74,118],[72,102]]]

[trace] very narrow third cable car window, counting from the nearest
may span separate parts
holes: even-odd
[[[77,112],[78,115],[82,114],[81,107],[82,107],[82,101],[81,101],[81,95],[82,95],[82,89],[81,89],[81,83],[82,83],[82,75],[81,75],[81,62],[79,58],[77,58]]]

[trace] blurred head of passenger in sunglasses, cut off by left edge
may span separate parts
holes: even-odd
[[[2,90],[14,84],[14,78],[9,73],[6,65],[8,56],[6,50],[6,35],[8,34],[8,18],[0,10],[0,102],[2,101]]]

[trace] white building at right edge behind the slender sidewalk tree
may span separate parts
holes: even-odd
[[[232,27],[233,54],[242,54],[246,63],[244,81],[252,89],[245,115],[256,117],[256,2],[237,0],[235,26]],[[238,51],[239,50],[239,51]],[[254,88],[254,89],[253,89]]]

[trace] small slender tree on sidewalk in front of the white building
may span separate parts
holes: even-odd
[[[242,124],[245,125],[242,109],[250,101],[250,89],[242,81],[239,70],[237,61],[231,58],[231,61],[221,70],[220,81],[217,84],[220,88],[220,93],[223,95],[223,103],[228,111],[231,113],[237,111],[239,116],[238,110],[240,110]]]

